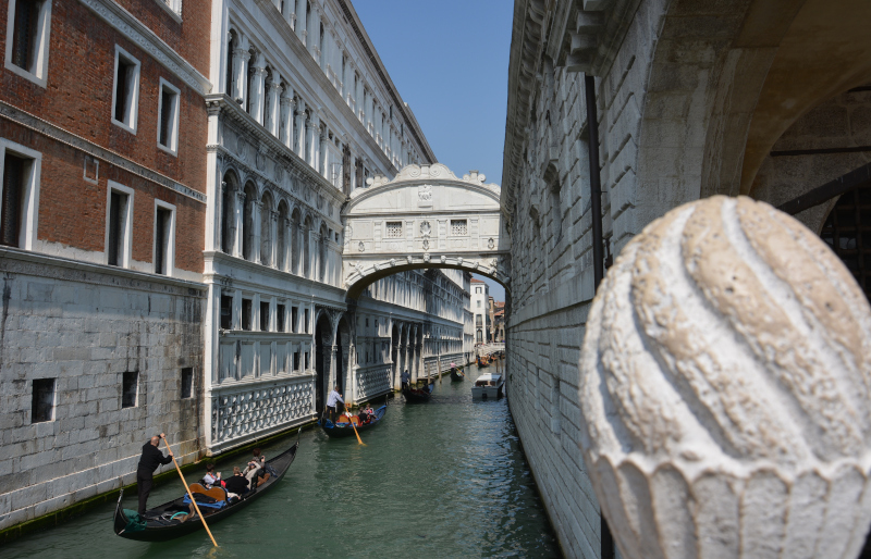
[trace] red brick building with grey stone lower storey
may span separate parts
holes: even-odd
[[[211,90],[209,0],[5,8],[0,530],[197,455]]]

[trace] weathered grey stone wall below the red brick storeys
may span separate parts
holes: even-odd
[[[0,250],[0,530],[133,483],[154,434],[196,460],[199,284],[14,249]],[[182,399],[184,368],[194,383]],[[133,371],[136,406],[122,409]],[[36,378],[56,380],[52,421],[32,423]]]

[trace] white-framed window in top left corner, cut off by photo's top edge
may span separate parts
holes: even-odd
[[[51,0],[10,0],[5,66],[46,87]]]

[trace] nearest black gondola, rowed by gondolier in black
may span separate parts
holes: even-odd
[[[294,443],[290,449],[280,454],[272,460],[267,461],[267,464],[271,465],[278,472],[278,475],[273,474],[269,480],[263,482],[262,485],[249,490],[238,499],[233,499],[233,502],[223,506],[223,508],[209,508],[200,502],[199,499],[197,499],[199,510],[203,512],[206,521],[209,523],[209,527],[211,527],[212,523],[238,512],[241,509],[247,507],[260,496],[266,494],[269,489],[274,487],[293,463],[294,458],[296,458],[296,450],[298,448],[299,439],[297,437],[296,443]],[[203,489],[203,486],[199,484],[191,484],[192,492],[204,493],[201,490],[196,490],[196,488]],[[222,488],[217,487],[210,489],[212,493],[216,490],[219,493],[223,492]],[[114,531],[115,534],[121,537],[125,537],[127,539],[137,539],[139,542],[167,542],[169,539],[203,530],[203,521],[200,521],[196,514],[191,514],[191,517],[185,521],[181,521],[177,518],[189,513],[189,505],[185,505],[187,494],[179,497],[175,500],[164,502],[159,507],[147,510],[143,518],[139,518],[138,514],[135,514],[133,511],[123,509],[121,507],[121,499],[123,498],[124,489],[121,489],[121,495],[118,497],[118,505],[115,506],[114,514]]]

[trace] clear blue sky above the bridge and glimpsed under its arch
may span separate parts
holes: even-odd
[[[502,183],[514,2],[354,0],[378,54],[439,162]],[[490,295],[505,300],[505,289]]]

